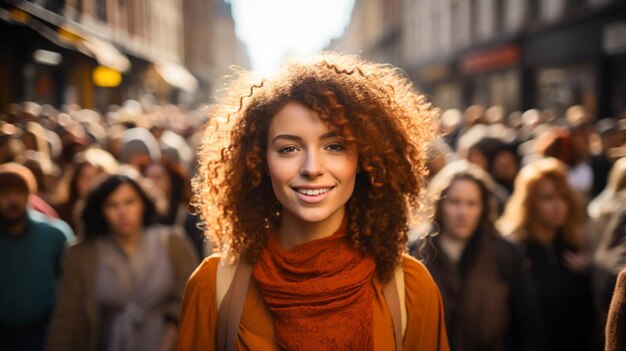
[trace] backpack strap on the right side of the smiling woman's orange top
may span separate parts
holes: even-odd
[[[393,319],[393,332],[396,351],[402,350],[402,339],[406,330],[406,302],[404,300],[404,270],[396,267],[391,279],[383,286],[383,295]],[[402,298],[400,298],[402,297]]]

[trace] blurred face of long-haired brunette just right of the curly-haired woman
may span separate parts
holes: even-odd
[[[453,239],[467,240],[478,228],[483,211],[480,187],[473,180],[452,182],[441,199],[441,229]]]

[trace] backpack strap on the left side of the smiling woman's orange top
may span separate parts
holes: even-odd
[[[231,276],[231,281],[224,281],[223,283],[219,278],[220,268],[226,271],[222,271],[225,278],[228,279],[231,271],[234,271],[234,276]],[[245,257],[241,257],[237,265],[223,265],[218,264],[218,279],[216,280],[217,291],[217,350],[219,351],[234,351],[237,345],[237,332],[239,331],[239,323],[241,321],[241,315],[243,314],[243,305],[246,300],[246,294],[248,293],[248,285],[250,283],[250,277],[252,276],[252,265],[248,263]],[[224,277],[221,277],[224,278]],[[228,286],[226,294],[223,298],[220,298],[220,285],[223,289]]]

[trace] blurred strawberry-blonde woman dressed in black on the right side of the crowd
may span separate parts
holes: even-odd
[[[499,229],[525,251],[546,350],[589,350],[593,336],[584,209],[554,158],[522,168]]]

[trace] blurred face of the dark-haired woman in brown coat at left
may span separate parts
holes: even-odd
[[[102,210],[114,235],[132,236],[143,229],[143,201],[128,183],[122,183],[109,195]]]

